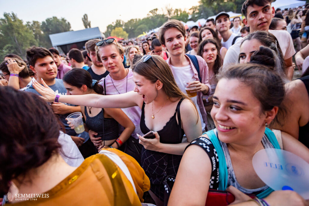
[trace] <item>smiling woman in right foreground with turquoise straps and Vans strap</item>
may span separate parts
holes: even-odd
[[[232,192],[234,203],[239,203],[235,205],[256,205],[245,194],[265,198],[263,202],[269,204],[264,205],[307,205],[294,191],[270,194],[273,190],[257,176],[252,165],[257,151],[280,149],[274,133],[266,128],[277,121],[278,112],[283,113],[284,83],[273,66],[248,63],[219,71],[211,110],[216,129],[187,147],[168,205],[205,205],[209,188]],[[309,149],[289,134],[280,133],[282,149],[309,162]]]

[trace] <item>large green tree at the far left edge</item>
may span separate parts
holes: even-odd
[[[26,49],[37,45],[33,32],[13,12],[4,12],[3,17],[0,19],[0,58],[7,53],[25,58]]]

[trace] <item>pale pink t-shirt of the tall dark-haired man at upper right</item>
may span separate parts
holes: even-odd
[[[295,54],[293,40],[289,32],[283,30],[269,30],[278,40],[284,59],[289,59]],[[240,44],[242,41],[232,45],[226,52],[223,65],[237,63],[240,53]]]

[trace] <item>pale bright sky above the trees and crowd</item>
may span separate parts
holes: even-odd
[[[99,27],[101,32],[105,32],[107,25],[115,22],[116,19],[124,22],[130,19],[142,19],[155,8],[158,8],[158,13],[162,13],[161,8],[166,6],[188,11],[192,6],[197,6],[198,2],[198,0],[0,0],[0,14],[3,17],[4,12],[14,12],[19,19],[23,20],[23,23],[42,22],[53,16],[58,19],[63,17],[70,22],[71,29],[74,31],[85,28],[82,18],[87,14],[91,27]]]

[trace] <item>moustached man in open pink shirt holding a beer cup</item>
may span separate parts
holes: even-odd
[[[191,99],[197,107],[197,111],[201,117],[202,130],[204,131],[207,123],[207,114],[202,101],[202,95],[211,92],[208,82],[208,67],[202,57],[194,56],[199,65],[199,75],[191,59],[185,55],[185,32],[186,30],[183,24],[178,20],[172,19],[164,23],[160,28],[159,40],[161,44],[166,46],[171,55],[166,62],[170,66],[180,90],[186,93],[185,89],[189,88],[191,92],[197,92],[197,96]],[[201,82],[199,77],[201,78]],[[190,79],[195,79],[196,81],[187,84],[186,81]]]

